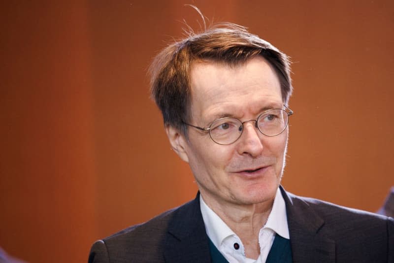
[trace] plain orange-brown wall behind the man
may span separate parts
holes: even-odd
[[[1,3],[0,246],[10,254],[86,262],[96,239],[195,196],[146,77],[180,21],[198,28],[183,3]],[[285,188],[376,211],[394,185],[393,1],[193,3],[292,57]]]

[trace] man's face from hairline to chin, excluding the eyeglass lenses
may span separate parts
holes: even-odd
[[[257,119],[265,110],[283,108],[280,83],[273,68],[256,57],[240,66],[195,63],[191,68],[190,124],[209,127],[216,119]],[[288,129],[267,137],[254,122],[244,124],[241,137],[219,145],[208,132],[189,128],[184,149],[206,202],[216,205],[272,201],[279,186]]]

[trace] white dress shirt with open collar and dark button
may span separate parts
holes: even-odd
[[[285,200],[279,188],[276,191],[267,222],[262,226],[259,233],[260,255],[257,260],[249,259],[245,256],[245,249],[241,239],[208,207],[201,195],[200,209],[208,237],[230,263],[265,263],[274,242],[275,233],[290,239]]]

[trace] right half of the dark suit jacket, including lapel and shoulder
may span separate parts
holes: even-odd
[[[394,263],[392,218],[281,190],[295,261]]]

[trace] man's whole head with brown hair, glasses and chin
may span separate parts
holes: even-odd
[[[156,58],[152,96],[172,149],[189,163],[211,207],[273,200],[285,164],[289,74],[286,55],[232,24],[192,35]],[[212,128],[225,137],[212,136]],[[239,136],[229,141],[228,131]]]

